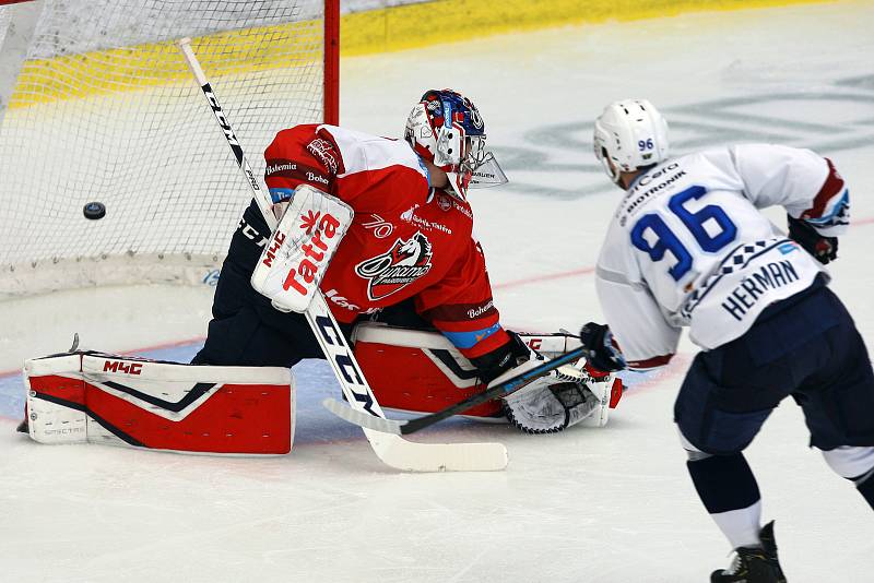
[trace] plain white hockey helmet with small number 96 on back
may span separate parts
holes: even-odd
[[[668,122],[646,99],[614,102],[594,122],[594,155],[614,182],[621,171],[662,162],[668,151]]]

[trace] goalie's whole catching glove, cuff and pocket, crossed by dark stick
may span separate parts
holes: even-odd
[[[495,378],[489,386],[536,367],[545,359],[528,346],[518,335],[509,333],[512,357],[511,368]],[[598,384],[595,395],[590,384]],[[586,425],[606,425],[610,392],[613,379],[610,376],[594,379],[577,367],[562,367],[541,377],[522,389],[506,395],[503,413],[518,429],[527,433],[556,433],[589,419]],[[622,385],[618,385],[622,390]],[[615,402],[613,405],[615,406]]]

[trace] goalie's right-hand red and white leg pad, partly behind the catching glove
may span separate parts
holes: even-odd
[[[546,358],[580,346],[577,337],[562,333],[520,333],[519,337]],[[435,413],[486,389],[476,367],[439,332],[363,322],[355,326],[352,341],[355,358],[382,408]],[[386,367],[386,362],[392,366]],[[566,366],[559,372],[582,380],[598,398],[583,425],[606,425],[610,409],[622,397],[622,381],[590,367]],[[507,420],[500,400],[471,407],[463,415],[485,421]]]

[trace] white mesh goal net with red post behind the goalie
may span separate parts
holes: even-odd
[[[9,55],[0,67],[10,88],[0,104],[0,299],[91,285],[214,284],[250,191],[175,41],[192,38],[262,176],[261,154],[279,130],[335,122],[338,5],[35,3],[17,74],[3,78]],[[16,8],[0,7],[2,51]],[[95,201],[106,216],[87,219],[83,206]]]

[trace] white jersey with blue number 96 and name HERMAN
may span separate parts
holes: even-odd
[[[604,316],[631,368],[665,364],[683,326],[704,349],[725,344],[768,305],[805,289],[818,273],[828,277],[758,211],[772,205],[826,236],[849,223],[843,180],[808,150],[710,150],[635,180],[597,270]]]

